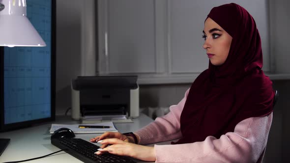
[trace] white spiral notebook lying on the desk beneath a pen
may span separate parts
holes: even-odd
[[[74,124],[74,125],[52,124],[49,132],[50,134],[53,134],[56,130],[60,128],[68,128],[72,130],[75,134],[99,134],[105,132],[118,132],[113,122],[86,124],[86,126],[110,126],[110,128],[79,128],[79,125],[84,124]]]

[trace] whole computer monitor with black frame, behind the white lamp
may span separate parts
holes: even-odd
[[[0,131],[55,119],[56,0],[26,3],[47,46],[0,47]]]

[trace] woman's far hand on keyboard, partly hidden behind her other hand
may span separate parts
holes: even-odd
[[[132,137],[129,138],[128,136],[125,136],[119,132],[106,132],[100,136],[96,136],[94,138],[91,138],[90,142],[98,142],[100,140],[107,139],[107,138],[117,138],[117,139],[123,140],[125,142],[135,143],[134,139]],[[101,146],[101,148],[105,148],[107,146],[108,146],[108,144],[103,144]]]

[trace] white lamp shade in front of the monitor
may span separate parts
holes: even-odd
[[[46,46],[26,16],[26,0],[0,0],[0,46]]]

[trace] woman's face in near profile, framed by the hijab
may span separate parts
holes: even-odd
[[[203,29],[203,48],[211,62],[215,66],[225,63],[231,43],[232,36],[212,19],[207,18]]]

